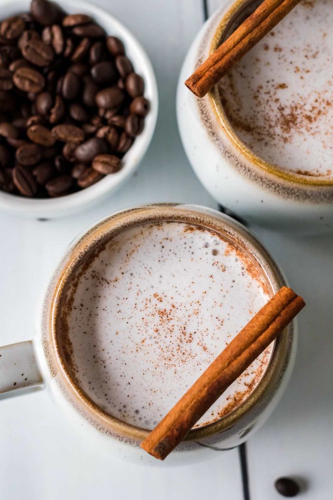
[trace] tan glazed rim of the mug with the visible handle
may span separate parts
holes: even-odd
[[[118,212],[102,220],[75,241],[68,254],[60,264],[54,276],[54,287],[50,290],[48,319],[43,336],[43,344],[50,372],[60,384],[60,389],[72,406],[86,420],[102,432],[111,434],[122,440],[138,443],[150,432],[106,413],[87,394],[85,394],[73,378],[66,361],[63,358],[62,347],[59,344],[57,321],[61,311],[61,300],[73,271],[93,248],[110,238],[110,235],[128,227],[147,222],[182,221],[205,226],[220,232],[241,246],[252,261],[259,265],[265,277],[270,294],[273,295],[285,281],[268,252],[261,244],[234,219],[216,210],[182,204],[158,204],[131,208]],[[262,398],[270,397],[276,390],[281,375],[288,364],[293,325],[289,325],[284,333],[275,341],[275,346],[266,371],[253,392],[231,413],[202,427],[192,429],[186,440],[196,440],[208,435],[231,428],[240,417],[253,408]]]

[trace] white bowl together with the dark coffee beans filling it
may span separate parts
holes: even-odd
[[[0,209],[56,217],[110,195],[156,123],[150,61],[80,0],[1,0]]]

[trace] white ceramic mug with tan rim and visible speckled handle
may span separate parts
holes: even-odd
[[[130,425],[102,410],[81,389],[66,357],[68,343],[60,334],[59,323],[62,297],[72,283],[71,277],[96,247],[125,228],[163,220],[208,227],[230,238],[243,251],[246,250],[256,266],[261,266],[271,296],[286,284],[276,263],[257,239],[223,213],[182,204],[130,208],[109,216],[74,240],[44,294],[33,340],[0,348],[0,394],[5,396],[16,389],[46,386],[63,407],[66,419],[76,422],[76,428],[83,430],[85,438],[92,437],[104,449],[107,447],[119,456],[153,464],[161,462],[139,447],[149,430]],[[237,446],[267,419],[291,374],[296,351],[295,324],[293,321],[275,341],[269,365],[251,394],[229,414],[192,429],[165,463],[189,463],[213,455],[216,450]],[[16,391],[17,394],[20,392]]]

